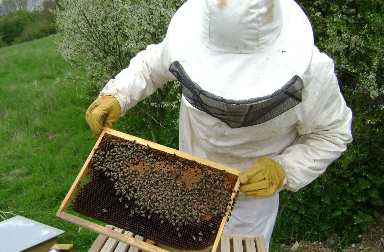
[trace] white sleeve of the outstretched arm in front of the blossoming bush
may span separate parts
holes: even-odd
[[[165,40],[164,40],[165,41]],[[115,97],[121,108],[120,116],[138,102],[145,99],[175,77],[164,61],[165,42],[151,44],[131,59],[128,68],[123,69],[115,79],[108,81],[100,92],[101,96]]]

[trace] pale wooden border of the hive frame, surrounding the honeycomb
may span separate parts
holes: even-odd
[[[125,234],[112,231],[111,229],[109,229],[105,226],[95,224],[94,222],[85,220],[81,217],[74,216],[74,215],[66,212],[66,210],[68,209],[68,206],[70,205],[71,201],[73,200],[76,192],[81,187],[81,184],[82,184],[85,176],[88,174],[89,162],[91,161],[91,158],[94,154],[94,151],[99,146],[99,143],[101,142],[105,133],[108,133],[109,135],[120,137],[120,138],[123,138],[126,140],[130,140],[130,141],[135,140],[139,144],[149,145],[151,148],[156,148],[157,150],[161,150],[163,152],[167,152],[170,154],[175,153],[177,156],[179,156],[181,158],[185,158],[185,159],[189,159],[189,160],[195,160],[196,162],[201,163],[203,165],[211,166],[211,167],[219,169],[219,170],[225,170],[228,173],[232,173],[233,175],[236,175],[236,176],[239,176],[242,173],[242,171],[240,171],[240,170],[237,170],[237,169],[225,166],[225,165],[221,165],[219,163],[216,163],[216,162],[213,162],[210,160],[206,160],[206,159],[200,158],[198,156],[194,156],[194,155],[190,155],[188,153],[180,152],[179,150],[165,147],[163,145],[159,145],[157,143],[153,143],[153,142],[150,142],[148,140],[144,140],[142,138],[134,137],[132,135],[128,135],[128,134],[104,127],[103,132],[101,133],[100,137],[98,138],[94,148],[92,149],[91,153],[89,154],[89,156],[88,156],[86,162],[84,163],[83,167],[81,168],[78,176],[74,180],[70,190],[68,191],[65,199],[63,200],[63,203],[61,203],[61,206],[59,207],[56,216],[59,217],[60,219],[63,219],[63,220],[68,221],[70,223],[76,224],[77,226],[89,229],[89,230],[94,231],[98,234],[102,234],[104,236],[111,237],[111,238],[118,240],[120,242],[124,242],[126,244],[137,247],[143,251],[169,252],[168,250],[157,247],[155,245],[155,242],[152,240],[147,240],[146,242],[144,242],[142,240],[135,239],[135,238],[127,236]],[[240,181],[239,181],[239,179],[237,179],[237,181],[235,183],[235,188],[233,188],[233,189],[235,191],[237,191],[239,186],[240,186]],[[235,198],[235,193],[232,194],[232,200],[229,202],[228,206],[232,206],[234,198]],[[227,218],[228,218],[228,214],[229,214],[229,211],[226,212],[225,216],[223,217],[223,219],[221,221],[220,228],[217,231],[217,236],[216,236],[216,239],[214,241],[214,245],[212,246],[212,250],[211,250],[212,252],[215,252],[217,247],[218,247],[218,244],[220,242],[220,237],[221,237],[221,234],[222,234],[223,229],[224,229],[225,222],[227,221]]]

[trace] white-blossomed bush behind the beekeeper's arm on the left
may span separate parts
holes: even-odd
[[[60,36],[56,38],[56,44],[72,68],[66,77],[84,81],[86,98],[95,99],[109,79],[127,68],[132,57],[147,45],[164,39],[170,19],[183,2],[59,0],[55,21]],[[145,118],[146,123],[142,124],[147,125],[144,128],[157,142],[157,129],[167,126],[172,127],[173,132],[177,130],[179,102],[179,84],[170,81],[127,114],[139,121]],[[127,121],[132,120],[121,119],[126,125]],[[145,135],[143,131],[139,133]]]

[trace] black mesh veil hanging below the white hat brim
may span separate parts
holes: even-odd
[[[192,81],[178,61],[169,71],[180,81],[182,94],[195,108],[221,120],[231,128],[261,124],[301,102],[303,81],[297,75],[270,96],[228,100],[205,91]]]

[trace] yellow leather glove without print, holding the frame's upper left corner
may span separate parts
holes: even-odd
[[[99,137],[103,131],[103,125],[107,128],[112,128],[112,125],[118,121],[120,114],[120,105],[115,97],[99,96],[99,98],[94,100],[89,106],[85,114],[85,120],[93,134]],[[104,116],[105,119],[104,122],[102,122],[101,120]]]

